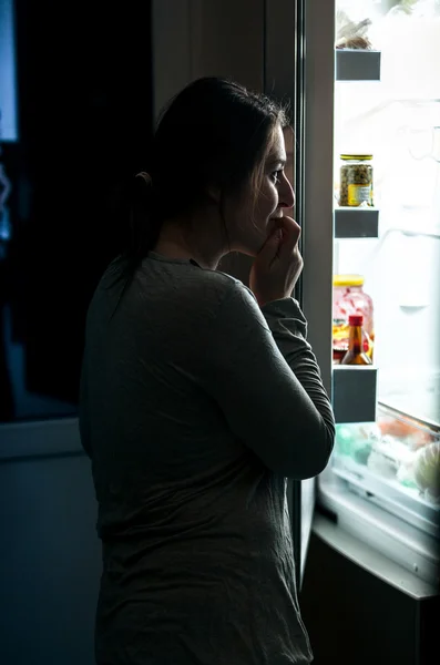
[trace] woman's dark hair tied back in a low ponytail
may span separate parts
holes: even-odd
[[[288,124],[285,108],[233,81],[203,78],[176,94],[154,133],[151,180],[131,180],[122,254],[132,267],[154,247],[163,222],[203,204],[208,187],[221,192],[222,205],[249,180],[257,185],[278,124]]]

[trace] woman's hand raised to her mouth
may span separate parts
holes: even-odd
[[[249,286],[258,305],[288,298],[303,270],[298,241],[301,229],[291,217],[282,217],[257,254]]]

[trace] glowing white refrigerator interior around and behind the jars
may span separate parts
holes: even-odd
[[[440,518],[440,3],[339,0],[337,39],[347,18],[369,40],[371,62],[379,51],[380,80],[338,80],[346,53],[336,49],[334,274],[361,275],[372,298],[374,365],[357,376],[358,400],[375,401],[375,418],[337,418],[319,485],[395,515],[432,551]],[[339,206],[344,153],[372,155],[372,207]],[[371,382],[362,395],[374,370],[376,395]],[[340,372],[334,366],[334,377]]]

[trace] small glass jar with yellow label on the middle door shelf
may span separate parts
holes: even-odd
[[[372,155],[340,155],[339,205],[374,205]]]

